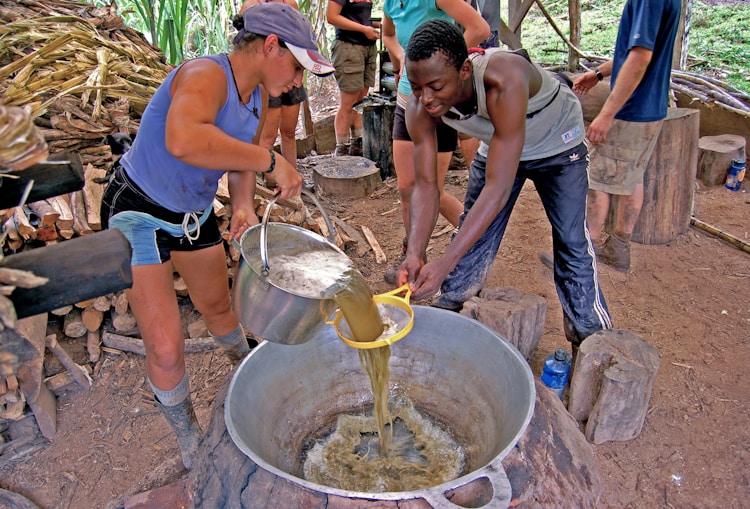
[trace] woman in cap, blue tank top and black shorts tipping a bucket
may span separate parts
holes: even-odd
[[[273,172],[282,198],[299,195],[299,173],[253,144],[266,102],[261,85],[278,96],[302,85],[304,69],[333,72],[318,53],[309,21],[292,7],[264,3],[234,21],[239,32],[231,53],[183,63],[156,91],[102,200],[102,220],[132,247],[127,297],[146,349],[147,379],[186,468],[201,430],[190,400],[173,272],[187,284],[211,336],[233,360],[241,359],[249,345],[230,306],[212,208],[218,181],[228,173],[233,238],[258,223],[256,172]]]

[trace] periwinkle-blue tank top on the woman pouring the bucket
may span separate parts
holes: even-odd
[[[199,58],[218,63],[227,78],[227,100],[216,115],[214,125],[229,136],[251,143],[259,120],[240,101],[227,55]],[[180,67],[167,76],[149,101],[133,146],[122,156],[120,164],[128,176],[162,207],[173,212],[198,212],[213,202],[219,179],[225,172],[184,163],[167,152],[164,137],[167,112],[172,104],[170,90]],[[250,104],[261,105],[260,87],[253,91]]]

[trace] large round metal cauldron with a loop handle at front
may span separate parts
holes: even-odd
[[[506,507],[511,489],[501,462],[534,412],[531,370],[513,345],[475,320],[424,306],[414,306],[414,312],[412,332],[391,347],[391,394],[404,394],[453,433],[466,455],[461,477],[387,493],[341,490],[302,478],[306,440],[330,429],[339,414],[361,414],[372,404],[357,351],[332,327],[294,347],[263,343],[245,358],[224,405],[234,443],[266,470],[318,492],[372,500],[423,498],[435,508],[456,507],[444,494],[484,477],[494,490],[486,507]]]

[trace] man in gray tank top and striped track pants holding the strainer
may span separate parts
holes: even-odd
[[[406,66],[416,185],[398,283],[409,281],[414,299],[433,297],[433,306],[460,309],[482,289],[521,188],[531,179],[552,225],[554,280],[568,341],[575,350],[590,334],[611,328],[586,228],[583,114],[570,88],[512,52],[490,49],[469,58],[461,33],[441,20],[414,32]],[[438,210],[439,123],[482,143],[469,170],[458,233],[442,256],[427,263]]]

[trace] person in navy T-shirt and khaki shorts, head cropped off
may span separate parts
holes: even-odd
[[[610,76],[611,92],[586,135],[591,149],[587,217],[597,257],[616,270],[630,269],[630,238],[643,206],[643,174],[667,116],[672,53],[680,0],[628,0],[614,58],[579,76],[585,94]],[[612,233],[602,241],[610,196],[619,195]]]

